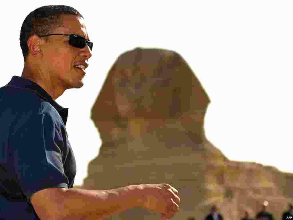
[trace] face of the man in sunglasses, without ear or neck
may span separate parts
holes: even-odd
[[[60,15],[62,27],[57,28],[51,34],[76,34],[89,40],[84,19],[76,15]],[[80,88],[83,86],[82,79],[85,71],[76,68],[79,62],[87,62],[91,57],[91,51],[86,45],[85,48],[76,48],[69,44],[69,36],[51,35],[49,42],[42,46],[44,56],[42,57],[42,66],[45,72],[50,74],[55,86],[64,87],[64,89]],[[54,86],[54,85],[52,85]]]

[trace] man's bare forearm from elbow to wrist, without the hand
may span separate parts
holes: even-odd
[[[107,190],[66,189],[62,199],[58,216],[70,220],[104,219],[139,207],[143,201],[139,185]]]

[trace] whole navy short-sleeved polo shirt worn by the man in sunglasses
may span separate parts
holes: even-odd
[[[39,219],[32,194],[73,187],[76,163],[67,114],[28,79],[13,76],[0,88],[0,219]]]

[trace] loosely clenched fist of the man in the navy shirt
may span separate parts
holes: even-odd
[[[179,211],[177,189],[168,184],[140,184],[143,192],[142,208],[161,213],[161,219],[170,219]]]

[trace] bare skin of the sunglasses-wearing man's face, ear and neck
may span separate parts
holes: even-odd
[[[62,27],[52,32],[76,34],[89,39],[84,19],[76,15],[61,15]],[[50,33],[51,34],[51,33]],[[84,70],[74,67],[77,62],[88,62],[90,48],[76,48],[68,43],[69,36],[52,35],[46,42],[33,35],[28,39],[29,54],[26,57],[21,77],[39,84],[53,99],[66,89],[81,88]]]

